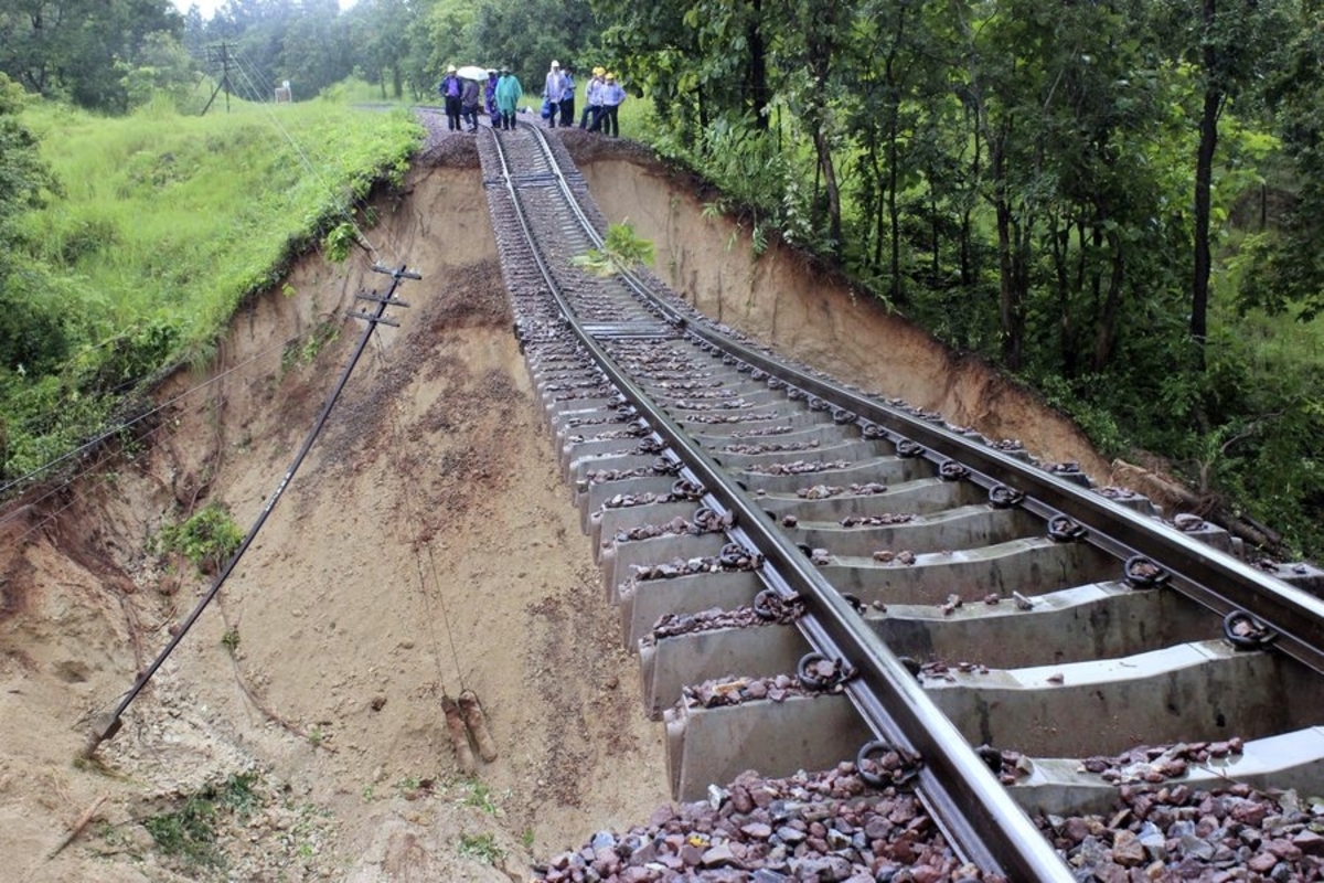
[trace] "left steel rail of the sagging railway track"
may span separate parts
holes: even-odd
[[[532,131],[543,139],[542,132]],[[800,548],[775,527],[756,500],[661,410],[584,330],[532,245],[530,226],[519,205],[499,139],[496,143],[519,224],[568,327],[621,395],[681,455],[706,491],[735,514],[733,539],[741,534],[748,536],[765,556],[771,565],[764,568],[769,585],[798,594],[806,601],[809,614],[801,617],[797,625],[814,650],[828,658],[845,659],[859,670],[859,678],[847,683],[846,695],[876,736],[923,757],[919,794],[953,849],[980,867],[997,870],[1010,879],[1074,879],[1062,858],[882,638],[805,559]],[[545,143],[543,148],[552,167],[557,168]],[[576,213],[584,218],[559,168],[556,176]],[[674,311],[669,308],[669,312]]]

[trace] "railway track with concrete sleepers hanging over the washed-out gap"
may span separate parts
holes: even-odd
[[[1319,571],[788,363],[647,274],[589,275],[606,222],[560,142],[479,154],[601,565],[584,602],[620,609],[678,800],[854,761],[1030,880],[1072,879],[1030,815],[1119,784],[1324,793]]]

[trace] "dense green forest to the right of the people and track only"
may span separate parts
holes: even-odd
[[[1294,547],[1324,548],[1307,539],[1324,512],[1317,355],[1268,372],[1237,332],[1192,340],[1209,101],[1210,315],[1324,311],[1324,29],[1305,7],[1234,0],[1207,21],[1166,1],[594,8],[654,99],[638,135],[716,184],[756,253],[780,237],[843,261],[1037,384],[1104,451],[1156,451]]]

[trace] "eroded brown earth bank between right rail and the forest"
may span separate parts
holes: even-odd
[[[755,258],[749,232],[706,216],[682,179],[629,160],[584,171],[606,217],[629,218],[651,240],[654,271],[704,314],[839,380],[936,410],[993,440],[1021,440],[1045,461],[1074,461],[1107,481],[1107,461],[1071,421],[879,302],[857,297],[804,256],[775,246]]]

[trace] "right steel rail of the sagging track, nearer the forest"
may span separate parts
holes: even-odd
[[[573,191],[555,164],[545,136],[536,128],[532,131],[536,132],[548,160],[553,163],[561,191],[572,201],[591,240],[601,248],[602,240],[575,201]],[[1025,508],[1045,518],[1062,514],[1074,519],[1088,528],[1086,541],[1123,560],[1136,555],[1151,559],[1170,573],[1169,585],[1173,589],[1219,617],[1233,610],[1250,613],[1276,633],[1274,646],[1316,673],[1324,674],[1324,600],[1250,567],[1207,543],[1156,523],[1152,518],[994,447],[973,442],[904,410],[880,404],[845,385],[786,365],[704,323],[686,323],[682,314],[659,298],[637,274],[624,269],[621,275],[638,295],[662,310],[673,324],[686,326],[690,334],[722,347],[745,363],[888,429],[894,441],[896,437],[903,437],[923,445],[928,449],[925,455],[935,462],[944,459],[961,462],[976,473],[972,478],[982,478],[981,485],[1006,485],[1025,492],[1026,500],[1021,503]],[[940,451],[940,455],[929,453],[933,450]],[[1099,524],[1110,527],[1099,528],[1096,527]]]

